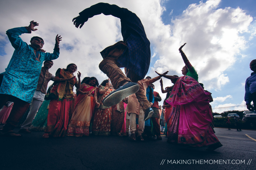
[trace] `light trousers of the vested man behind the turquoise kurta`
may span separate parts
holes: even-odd
[[[41,100],[37,100],[37,99],[33,98],[31,105],[30,105],[30,110],[28,112],[27,119],[21,125],[20,129],[28,129],[28,127],[30,127],[30,125],[32,124],[32,121],[36,115],[36,112],[39,110],[42,102],[43,101],[41,101]]]

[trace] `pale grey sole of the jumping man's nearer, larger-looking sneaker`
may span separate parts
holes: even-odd
[[[104,101],[104,106],[114,106],[115,104],[118,104],[120,101],[122,101],[125,97],[128,97],[134,93],[136,93],[139,90],[140,86],[138,84],[116,91],[113,94],[108,95]]]

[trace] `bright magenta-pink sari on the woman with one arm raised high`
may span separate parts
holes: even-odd
[[[179,77],[166,100],[173,106],[168,142],[204,147],[220,143],[210,123],[212,116],[207,92],[190,76]],[[169,120],[170,121],[170,120]],[[169,123],[169,122],[168,122]]]

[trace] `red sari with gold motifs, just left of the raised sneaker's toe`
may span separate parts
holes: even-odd
[[[99,90],[104,90],[104,86],[99,86]],[[100,95],[98,102],[100,103],[99,108],[95,109],[93,123],[92,123],[92,134],[93,135],[110,135],[110,124],[111,124],[111,106],[106,107],[103,105],[103,99],[111,93],[110,90]]]

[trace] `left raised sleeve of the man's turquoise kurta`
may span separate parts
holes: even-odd
[[[31,33],[25,27],[12,28],[6,31],[6,34],[12,44],[12,46],[18,50],[20,48],[24,48],[27,44],[22,41],[19,35],[24,33]]]

